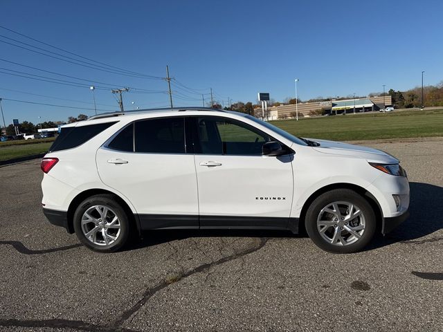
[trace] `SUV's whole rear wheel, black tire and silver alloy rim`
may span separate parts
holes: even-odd
[[[91,196],[78,205],[73,217],[75,234],[88,248],[114,252],[125,246],[130,223],[113,195]]]

